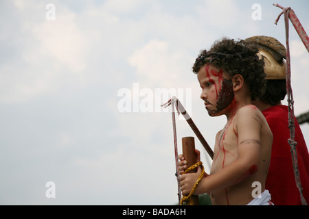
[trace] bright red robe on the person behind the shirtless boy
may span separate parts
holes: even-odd
[[[275,205],[301,205],[299,190],[290,153],[290,131],[288,129],[288,107],[276,105],[262,112],[273,131],[271,164],[266,179],[266,190],[271,193]],[[309,154],[299,124],[295,119],[295,141],[297,161],[303,195],[309,205]]]

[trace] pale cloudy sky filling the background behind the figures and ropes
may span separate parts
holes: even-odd
[[[309,31],[300,0],[2,0],[0,204],[175,204],[172,120],[159,105],[174,92],[213,146],[226,118],[208,116],[192,64],[224,36],[285,42],[272,3]],[[309,111],[309,55],[292,25],[290,49],[299,115]],[[176,123],[181,153],[194,133]],[[196,148],[208,169],[197,138]]]

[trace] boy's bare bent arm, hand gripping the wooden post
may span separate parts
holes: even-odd
[[[203,178],[194,194],[209,193],[220,188],[234,185],[258,170],[260,160],[260,131],[261,120],[258,112],[253,107],[242,107],[238,112],[236,127],[238,129],[238,158],[229,166],[220,171]],[[193,188],[198,172],[181,175],[181,190],[188,194]]]

